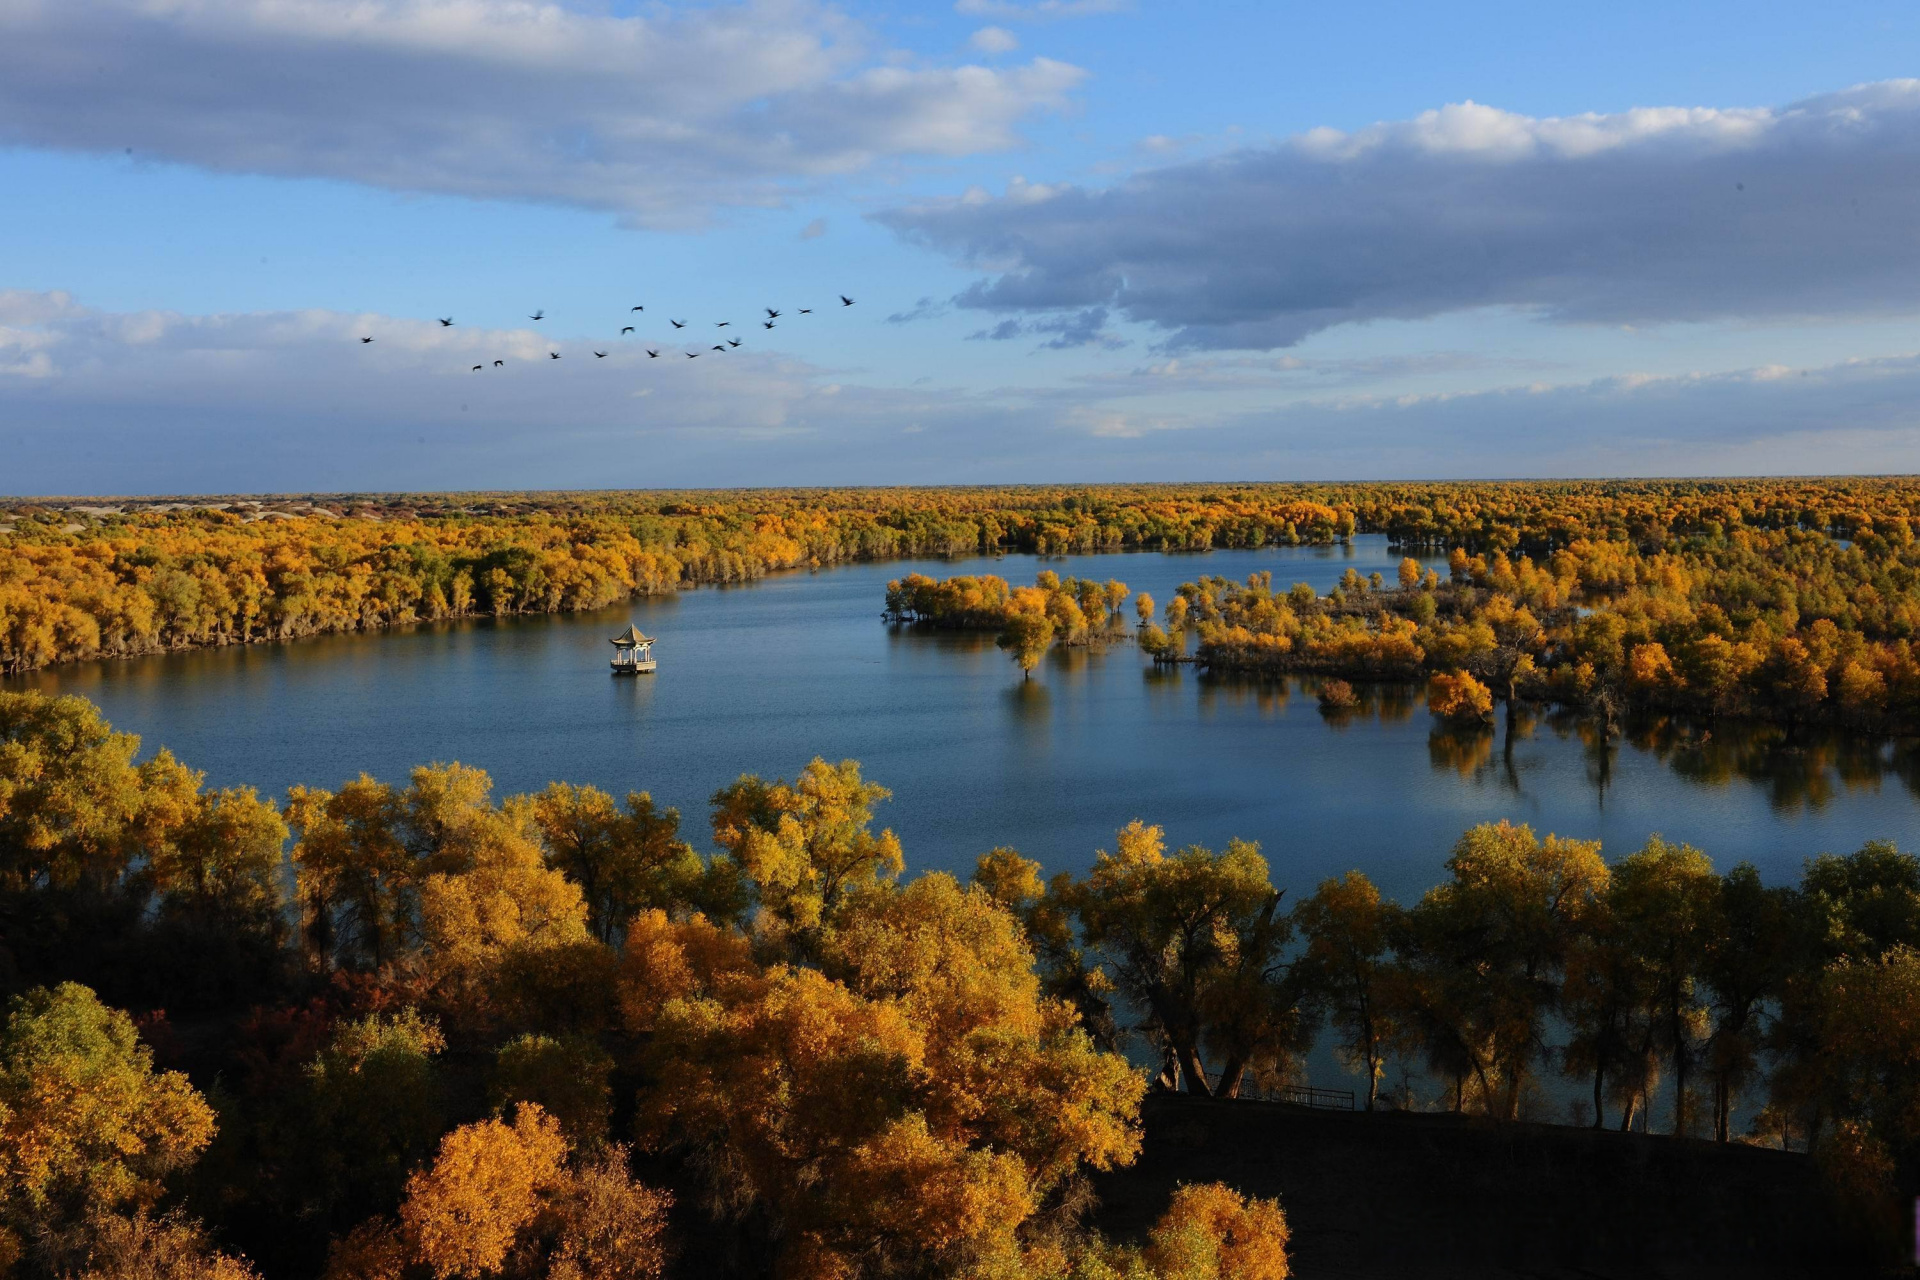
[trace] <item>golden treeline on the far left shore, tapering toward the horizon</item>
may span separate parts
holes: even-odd
[[[605,608],[776,570],[1327,543],[1288,489],[778,489],[0,512],[0,672],[440,618]]]

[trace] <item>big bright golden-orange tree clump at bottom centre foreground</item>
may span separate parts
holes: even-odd
[[[1079,1167],[1137,1150],[1140,1079],[1039,994],[1021,929],[948,877],[851,892],[814,967],[664,913],[628,935],[647,1146],[708,1151],[781,1224],[787,1274],[948,1272],[1018,1253]]]

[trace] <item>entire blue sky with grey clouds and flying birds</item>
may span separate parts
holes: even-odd
[[[1916,75],[1874,0],[0,0],[0,493],[1920,472]]]

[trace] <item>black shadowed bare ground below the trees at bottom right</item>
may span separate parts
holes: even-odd
[[[1298,1280],[1843,1280],[1876,1276],[1793,1151],[1152,1094],[1140,1159],[1094,1178],[1144,1234],[1183,1182],[1277,1196]]]

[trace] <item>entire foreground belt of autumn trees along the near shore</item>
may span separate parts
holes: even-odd
[[[1081,875],[910,877],[887,798],[743,775],[699,850],[645,793],[459,764],[209,789],[0,693],[0,1272],[1283,1280],[1273,1201],[1104,1238],[1089,1188],[1148,1090],[1317,1044],[1365,1109],[1811,1151],[1889,1249],[1920,1190],[1893,844],[1768,885],[1492,823],[1396,904],[1144,819]]]

